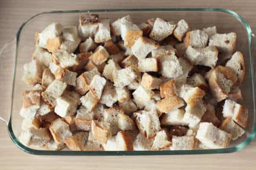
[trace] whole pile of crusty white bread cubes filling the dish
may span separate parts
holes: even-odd
[[[35,36],[24,65],[20,141],[49,150],[193,150],[242,136],[236,33],[83,14]]]

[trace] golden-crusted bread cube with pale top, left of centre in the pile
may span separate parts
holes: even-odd
[[[95,75],[100,75],[97,68],[94,68],[90,71],[86,71],[83,74],[81,74],[76,79],[76,91],[80,95],[84,95],[89,90],[90,82],[92,81],[93,77]]]

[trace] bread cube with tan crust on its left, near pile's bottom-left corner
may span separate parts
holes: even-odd
[[[56,143],[64,142],[72,136],[69,125],[60,118],[51,123],[49,130]]]

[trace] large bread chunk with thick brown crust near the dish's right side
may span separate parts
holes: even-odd
[[[218,66],[212,71],[209,78],[209,88],[217,102],[227,98],[236,80],[236,74],[230,68]]]

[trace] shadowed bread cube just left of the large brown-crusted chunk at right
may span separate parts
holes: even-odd
[[[186,84],[192,85],[193,87],[201,88],[204,91],[207,91],[208,85],[201,74],[195,73],[189,78],[187,78]]]

